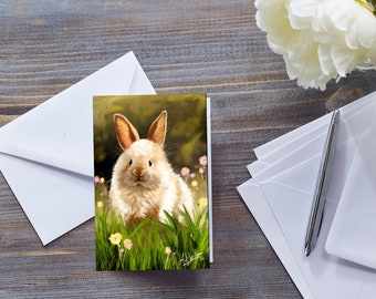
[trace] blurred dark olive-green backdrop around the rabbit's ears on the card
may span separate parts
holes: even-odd
[[[205,94],[171,95],[106,95],[94,96],[94,168],[95,175],[111,179],[112,168],[122,153],[114,127],[113,115],[121,113],[145,138],[150,124],[167,110],[165,153],[179,173],[190,169],[207,154],[207,117]]]

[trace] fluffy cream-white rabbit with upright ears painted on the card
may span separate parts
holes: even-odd
[[[167,111],[153,122],[147,138],[121,114],[114,114],[115,131],[123,153],[115,163],[109,200],[126,223],[138,218],[166,221],[167,212],[179,217],[184,207],[192,215],[192,194],[182,178],[174,173],[164,152]]]

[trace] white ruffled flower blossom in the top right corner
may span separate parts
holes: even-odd
[[[258,27],[291,80],[325,90],[357,64],[376,65],[376,18],[363,0],[255,0]]]

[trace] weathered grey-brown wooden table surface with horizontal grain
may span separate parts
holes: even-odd
[[[0,126],[130,50],[157,93],[208,93],[215,262],[96,272],[94,220],[42,247],[0,176],[0,297],[301,297],[236,187],[252,148],[369,93],[376,75],[296,86],[254,13],[246,0],[1,1]]]

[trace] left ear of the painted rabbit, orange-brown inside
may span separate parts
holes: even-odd
[[[114,123],[117,142],[123,150],[127,150],[130,144],[139,140],[137,130],[122,114],[114,114]]]

